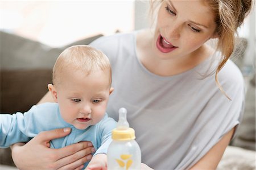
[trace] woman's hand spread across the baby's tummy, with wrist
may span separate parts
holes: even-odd
[[[60,128],[40,132],[27,144],[11,146],[12,157],[19,169],[82,169],[84,163],[92,159],[92,143],[80,142],[70,146],[52,149],[49,141],[67,136],[70,128]]]

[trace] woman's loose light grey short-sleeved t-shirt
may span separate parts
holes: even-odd
[[[154,169],[188,169],[240,123],[242,74],[230,60],[218,74],[232,101],[218,89],[214,74],[202,77],[214,66],[213,56],[187,72],[158,76],[138,60],[136,34],[105,36],[90,44],[112,64],[114,92],[107,112],[118,121],[118,109],[127,109],[143,163]]]

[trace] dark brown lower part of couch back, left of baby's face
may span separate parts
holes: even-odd
[[[11,70],[1,74],[1,113],[27,111],[47,93],[47,85],[52,82],[52,71]]]

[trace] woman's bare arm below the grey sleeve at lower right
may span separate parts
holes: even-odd
[[[226,147],[230,142],[230,139],[232,138],[232,135],[234,134],[235,128],[236,127],[232,128],[232,130],[223,136],[223,138],[215,146],[213,146],[209,152],[204,155],[204,157],[202,157],[195,165],[193,165],[191,170],[216,169]]]

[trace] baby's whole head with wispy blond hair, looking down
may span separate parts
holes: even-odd
[[[112,71],[108,57],[88,45],[65,49],[53,67],[48,85],[65,122],[79,129],[95,125],[104,117],[112,93]]]

